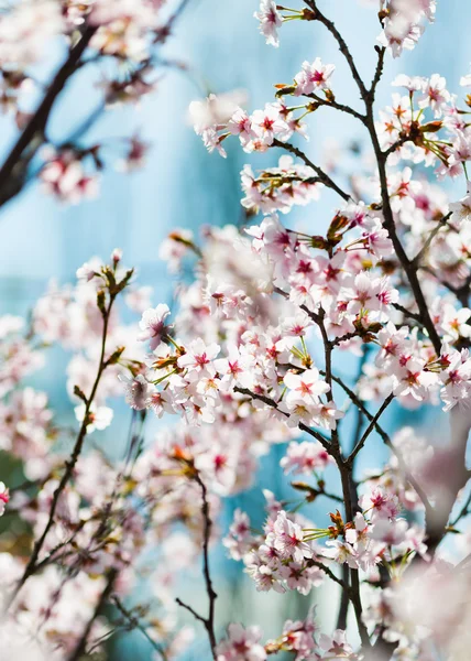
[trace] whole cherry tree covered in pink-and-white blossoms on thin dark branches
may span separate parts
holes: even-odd
[[[146,638],[156,659],[176,658],[191,646],[193,633],[177,624],[185,610],[207,636],[206,658],[216,661],[283,652],[297,661],[468,657],[471,97],[449,90],[439,74],[403,74],[391,106],[376,108],[386,58],[417,45],[436,2],[370,4],[380,34],[371,35],[368,82],[317,0],[298,9],[262,0],[255,12],[273,46],[294,21],[326,30],[355,84],[353,105],[336,89],[335,67],[321,54],[302,63],[292,83],[276,82],[275,98],[262,109],[240,107],[238,94],[191,104],[209,152],[224,156],[232,142],[282,156],[256,173],[242,170],[244,227],[205,227],[199,238],[175,229],[162,245],[177,274],[173,310],[151,302],[116,250],[109,263],[94,258],[79,268],[75,286],[46,292],[26,327],[18,317],[0,319],[1,447],[24,474],[18,486],[0,483],[0,513],[29,531],[22,545],[12,529],[14,543],[0,554],[0,630],[10,658],[92,658],[129,630]],[[65,17],[79,21],[81,39],[92,32],[90,48],[130,56],[143,47],[150,20],[144,11],[128,14],[130,7],[68,3]],[[23,25],[23,9],[9,20]],[[114,21],[117,33],[133,35],[124,44],[108,32]],[[45,25],[44,32],[54,22]],[[7,54],[14,46],[26,57],[36,39],[28,47],[6,45]],[[461,86],[469,85],[464,75]],[[306,118],[324,110],[349,115],[363,131],[370,153],[352,171],[342,151],[324,165],[296,145],[297,133],[308,136]],[[10,189],[19,181],[13,170],[29,166],[29,149],[9,171]],[[53,158],[40,176],[56,192],[73,164]],[[461,199],[447,195],[448,177],[462,184]],[[320,224],[316,234],[289,226],[291,209],[315,205],[325,188],[337,202],[324,234]],[[134,322],[122,321],[125,307]],[[66,431],[46,394],[24,384],[55,344],[72,353],[67,389],[77,431],[69,454],[61,445],[52,452]],[[358,359],[354,378],[344,373],[346,356]],[[119,394],[132,425],[124,457],[112,462],[92,438],[110,423]],[[420,409],[443,419],[446,438],[432,443],[410,426],[394,431],[385,415],[393,410],[401,420],[402,410]],[[153,414],[168,426],[144,442]],[[256,486],[260,457],[280,443],[280,476],[298,500],[265,490],[263,525],[238,509],[221,530],[224,498]],[[386,459],[365,470],[359,459],[371,464],[379,443]],[[327,524],[313,520],[314,501]],[[219,545],[253,589],[308,598],[329,585],[337,625],[322,630],[315,607],[273,639],[256,621],[220,622],[210,556]],[[176,584],[200,556],[205,611]],[[154,599],[140,602],[136,587],[150,574]]]

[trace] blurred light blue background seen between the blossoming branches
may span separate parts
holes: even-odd
[[[373,47],[380,32],[375,3],[325,0],[319,4],[336,20],[351,46],[360,72],[370,80],[375,65]],[[164,51],[168,61],[185,63],[187,73],[168,67],[156,93],[146,97],[140,107],[105,113],[94,126],[87,143],[98,137],[108,139],[139,131],[152,145],[143,170],[133,174],[106,170],[99,197],[76,207],[62,206],[33,184],[2,208],[1,314],[28,314],[51,279],[61,283],[72,282],[83,262],[95,254],[107,258],[116,247],[123,249],[125,264],[136,267],[139,282],[154,288],[154,305],[172,300],[172,280],[166,274],[165,264],[158,260],[163,238],[175,227],[197,232],[205,224],[239,224],[243,217],[239,174],[243,164],[250,162],[256,170],[275,165],[277,156],[282,155],[271,150],[264,155],[248,156],[237,141],[228,145],[227,160],[217,154],[208,155],[187,122],[187,108],[191,100],[206,96],[208,91],[217,94],[241,88],[248,93],[250,110],[263,107],[274,98],[273,84],[291,82],[303,61],[311,62],[320,56],[324,62],[332,62],[337,66],[332,83],[337,98],[352,105],[359,101],[342,57],[321,25],[287,23],[281,29],[280,48],[273,48],[265,45],[258,32],[258,23],[253,19],[256,10],[255,0],[190,0]],[[398,61],[386,57],[377,107],[390,104],[394,91],[391,80],[403,72],[423,76],[439,72],[447,77],[449,89],[460,93],[459,79],[470,71],[470,25],[469,0],[438,2],[437,21],[427,26],[419,46],[412,53],[406,52]],[[59,56],[53,53],[53,62]],[[99,94],[97,83],[98,78],[78,76],[67,88],[52,117],[51,132],[58,139],[68,134],[87,109],[94,107]],[[315,162],[319,162],[325,153],[326,139],[350,144],[353,141],[361,143],[364,138],[362,127],[357,126],[354,120],[326,109],[310,117],[308,124],[310,142],[303,147]],[[0,119],[0,130],[3,154],[14,138],[8,118]],[[320,202],[293,212],[295,218],[291,219],[291,225],[298,221],[307,231],[319,234],[337,204],[333,194],[324,191]],[[47,390],[53,405],[64,415],[69,415],[72,404],[59,369],[64,360],[64,357],[54,357],[57,369],[40,372],[35,384]],[[354,373],[357,361],[357,357],[348,357],[342,369]],[[123,411],[122,418],[118,416],[113,433],[128,424],[127,414]],[[393,430],[412,422],[426,430],[431,429],[431,416],[418,419],[416,413],[399,414],[397,410],[388,415],[387,422]],[[381,452],[379,448],[373,454]],[[284,447],[275,446],[262,464],[256,488],[227,502],[220,522],[222,528],[227,528],[237,507],[248,510],[255,516],[255,522],[261,523],[256,521],[255,512],[263,502],[262,488],[273,490],[277,498],[293,499],[294,492],[286,487],[288,480],[278,467],[283,454]],[[325,502],[320,503],[320,508],[322,505],[325,509]],[[320,517],[317,506],[313,506],[309,516],[319,521],[316,518]],[[237,563],[224,559],[222,551],[215,551],[212,561],[220,594],[220,627],[230,620],[259,624],[270,637],[280,631],[286,618],[305,617],[313,602],[320,604],[320,622],[326,627],[335,624],[331,606],[337,597],[329,594],[329,587],[308,597],[293,595],[287,599],[274,593],[260,595],[241,574]],[[206,595],[198,571],[194,576],[185,577],[182,597],[185,593],[190,595],[196,608],[204,605]],[[135,661],[152,658],[145,641],[136,635],[116,649],[113,659],[129,659],[131,650]],[[206,640],[201,635],[184,659],[196,661],[206,659]]]

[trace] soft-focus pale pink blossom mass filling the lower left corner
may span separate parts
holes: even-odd
[[[101,449],[89,447],[62,483],[64,462],[74,460],[67,459],[70,430],[52,411],[46,393],[24,382],[46,364],[47,347],[59,345],[72,353],[67,389],[80,423],[78,437],[91,436],[92,442],[111,423],[110,400],[122,393],[119,377],[139,370],[143,358],[135,322],[124,324],[123,310],[112,303],[120,297],[128,314],[136,315],[151,294],[131,280],[133,272],[122,268],[121,257],[114,250],[109,264],[92,258],[78,270],[74,288],[51,283],[26,329],[19,317],[1,318],[1,448],[21,462],[23,478],[17,475],[10,489],[0,483],[0,516],[26,525],[35,544],[41,540],[33,565],[25,565],[21,553],[1,553],[0,628],[8,659],[25,654],[62,661],[76,653],[86,629],[87,649],[98,649],[116,630],[113,621],[95,621],[103,592],[111,589],[121,604],[143,572],[151,573],[154,590],[146,607],[153,622],[146,625],[149,636],[172,655],[191,640],[188,628],[176,629],[168,592],[201,544],[201,492],[189,472],[193,460],[184,453],[188,435],[163,431],[143,452],[143,420],[134,414],[116,466]],[[55,444],[58,452],[52,452]],[[216,517],[219,498],[211,494],[208,499]],[[188,534],[178,530],[182,521]],[[175,548],[185,550],[178,560]],[[164,571],[149,565],[150,549],[158,549]],[[139,609],[139,615],[132,607],[127,610],[131,625],[143,616],[141,605]]]

